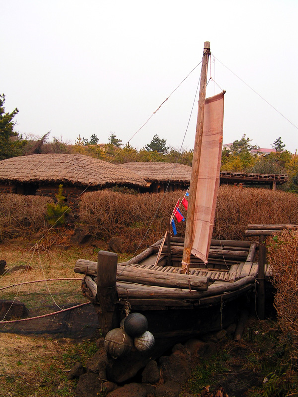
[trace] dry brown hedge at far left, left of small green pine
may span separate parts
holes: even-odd
[[[43,230],[48,197],[22,196],[14,194],[0,195],[0,240],[17,229],[20,235]]]

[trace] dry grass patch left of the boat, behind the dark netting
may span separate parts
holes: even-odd
[[[7,262],[6,272],[0,276],[0,288],[49,278],[77,278],[78,281],[48,282],[48,286],[59,306],[71,302],[85,302],[79,282],[81,276],[74,273],[74,265],[81,257],[96,261],[96,252],[93,253],[90,248],[83,250],[69,248],[66,251],[60,248],[52,250],[41,250],[41,247],[38,246],[34,248],[22,248],[14,245],[0,246],[0,259]],[[20,265],[29,265],[31,269],[9,272],[13,267]],[[16,286],[1,290],[0,293],[1,299],[13,299],[17,294],[17,299],[26,304],[31,315],[34,315],[36,311],[40,313],[44,306],[53,304],[45,282]]]

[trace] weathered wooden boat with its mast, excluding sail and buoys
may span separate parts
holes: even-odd
[[[155,346],[147,353],[110,359],[107,374],[116,382],[132,377],[171,345],[231,324],[255,285],[258,263],[254,262],[254,242],[210,238],[208,263],[191,249],[209,47],[205,42],[185,239],[171,237],[168,228],[163,239],[130,261],[118,264],[116,254],[100,251],[97,263],[80,259],[74,268],[85,274],[82,290],[94,304],[104,336],[119,327],[128,312],[139,312],[146,316],[148,331],[155,337]],[[212,199],[216,199],[213,192]]]

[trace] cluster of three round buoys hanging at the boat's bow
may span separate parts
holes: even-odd
[[[128,354],[133,346],[141,352],[150,350],[155,343],[154,336],[147,331],[148,322],[141,313],[131,313],[121,321],[120,328],[114,328],[106,334],[106,351],[118,358]]]

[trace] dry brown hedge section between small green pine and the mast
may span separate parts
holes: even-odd
[[[107,240],[121,236],[128,244],[136,242],[139,245],[149,229],[143,242],[147,245],[165,232],[171,211],[181,195],[181,192],[166,195],[127,195],[110,190],[88,192],[80,202],[80,220],[98,238]]]

